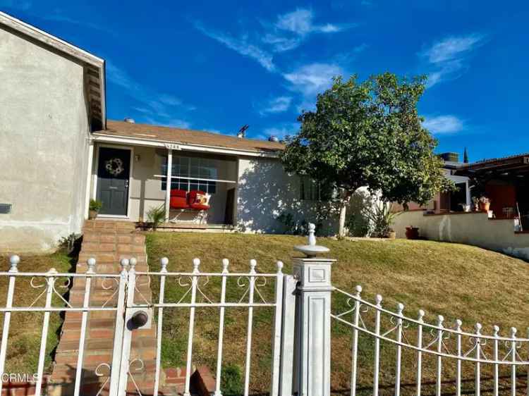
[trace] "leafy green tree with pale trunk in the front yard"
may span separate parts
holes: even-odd
[[[339,235],[345,233],[346,207],[367,186],[385,202],[425,204],[453,188],[437,141],[422,127],[417,104],[425,77],[412,80],[392,73],[358,82],[356,75],[333,80],[317,96],[316,111],[304,111],[297,135],[286,137],[286,171],[308,175],[338,192]]]

